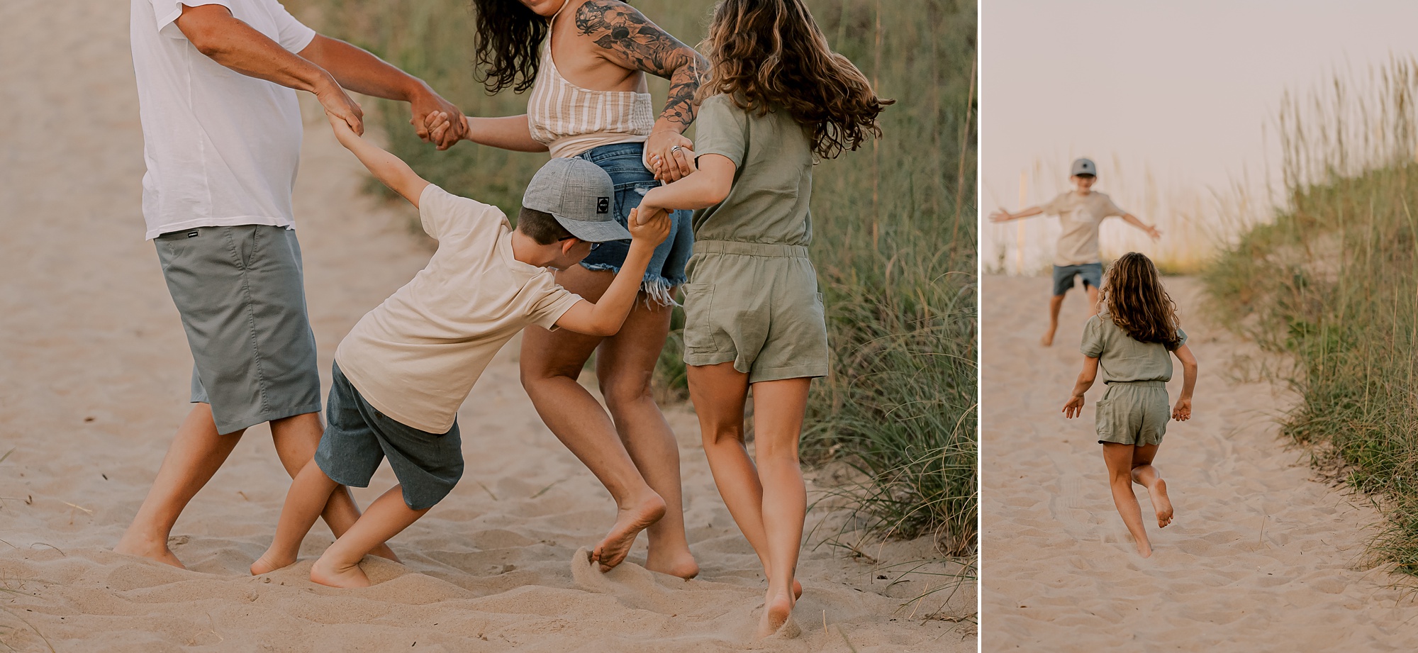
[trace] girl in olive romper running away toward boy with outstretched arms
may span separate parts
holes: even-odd
[[[1177,325],[1177,305],[1161,285],[1151,258],[1123,254],[1103,275],[1099,304],[1105,308],[1083,326],[1083,372],[1073,396],[1064,405],[1065,417],[1083,412],[1083,395],[1099,369],[1107,390],[1098,400],[1098,443],[1103,446],[1113,504],[1127,524],[1143,558],[1151,555],[1141,507],[1133,483],[1147,488],[1157,528],[1171,524],[1167,483],[1153,467],[1153,457],[1167,433],[1167,382],[1171,356],[1183,369],[1181,396],[1171,419],[1191,419],[1191,392],[1197,386],[1197,358],[1187,348],[1187,332]]]

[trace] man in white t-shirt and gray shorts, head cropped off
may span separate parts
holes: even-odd
[[[193,409],[115,547],[182,566],[167,537],[241,433],[271,423],[295,473],[315,454],[320,378],[305,311],[291,192],[301,156],[296,91],[363,132],[345,89],[410,102],[420,136],[458,109],[427,84],[316,34],[277,0],[130,0],[143,125],[143,219],[193,353]],[[455,121],[461,122],[461,121]],[[440,148],[457,142],[441,135]],[[347,491],[323,511],[336,535],[359,510]],[[374,551],[393,556],[387,547]]]

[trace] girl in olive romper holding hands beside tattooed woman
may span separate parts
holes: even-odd
[[[803,0],[722,0],[702,50],[698,153],[666,162],[698,169],[647,193],[638,217],[702,209],[685,285],[689,396],[719,494],[769,579],[757,627],[769,636],[801,593],[798,437],[808,386],[828,368],[807,257],[813,165],[881,135],[876,115],[891,101],[828,48]],[[744,447],[750,388],[754,457]]]

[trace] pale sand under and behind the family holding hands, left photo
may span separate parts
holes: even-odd
[[[0,3],[0,456],[10,451],[0,463],[0,643],[60,652],[974,650],[973,588],[915,613],[902,605],[939,576],[886,589],[898,574],[883,566],[927,555],[926,542],[891,545],[876,565],[810,542],[801,636],[750,643],[764,582],[713,488],[688,407],[669,410],[669,420],[700,579],[638,566],[644,538],[608,575],[574,565],[614,507],[533,412],[518,383],[516,342],[462,407],[462,484],[391,541],[407,566],[366,565],[373,588],[306,579],[311,556],[330,542],[323,525],[294,568],[247,574],[289,484],[265,427],[245,434],[177,522],[172,545],[190,571],[113,554],[189,409],[191,365],[142,240],[128,3]],[[308,111],[296,214],[328,375],[339,339],[421,268],[430,248],[410,231],[407,207],[360,193],[366,176],[322,124]],[[391,484],[384,467],[356,495],[367,504]],[[923,619],[933,612],[966,622]]]

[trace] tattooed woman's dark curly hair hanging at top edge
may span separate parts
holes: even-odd
[[[489,94],[536,82],[547,20],[518,0],[472,0],[475,70]]]

